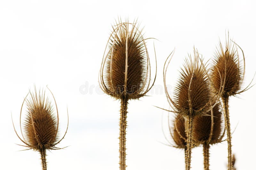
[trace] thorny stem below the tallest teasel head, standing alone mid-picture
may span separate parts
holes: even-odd
[[[120,134],[119,134],[119,165],[120,170],[125,170],[125,160],[126,160],[126,148],[125,148],[125,142],[126,142],[126,118],[127,118],[127,98],[123,97],[121,98],[121,110],[120,110]]]

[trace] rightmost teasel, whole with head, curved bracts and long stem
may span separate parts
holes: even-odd
[[[238,49],[242,51],[243,55],[243,64],[239,62],[239,53]],[[219,90],[221,84],[225,83],[225,86],[222,87],[221,99],[224,105],[224,120],[225,128],[227,130],[227,141],[228,141],[228,170],[232,169],[232,150],[231,150],[231,130],[230,130],[230,121],[229,121],[229,109],[228,109],[228,100],[230,96],[237,96],[242,92],[250,89],[251,83],[243,90],[241,87],[244,81],[245,73],[245,59],[244,52],[232,40],[229,40],[229,35],[226,38],[225,47],[222,44],[219,44],[213,59],[212,66],[212,82],[214,84],[215,91]],[[225,79],[223,79],[225,75]],[[221,78],[222,76],[222,78]]]

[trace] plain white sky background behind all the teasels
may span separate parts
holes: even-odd
[[[138,18],[145,26],[145,38],[154,37],[158,72],[155,90],[163,90],[164,60],[176,48],[169,66],[167,83],[172,87],[177,70],[193,46],[206,60],[215,46],[225,40],[225,31],[244,50],[245,84],[255,72],[256,23],[254,1],[0,1],[0,169],[39,170],[40,156],[25,149],[12,128],[19,130],[19,113],[28,89],[49,88],[60,112],[60,130],[69,129],[59,147],[48,151],[48,169],[117,170],[119,101],[102,94],[98,71],[111,24]],[[153,40],[148,41],[150,56]],[[152,60],[153,61],[153,60]],[[152,70],[154,67],[152,66]],[[255,81],[254,81],[255,82]],[[91,88],[86,94],[80,92]],[[233,152],[238,170],[255,167],[256,87],[230,98]],[[171,90],[172,91],[172,90]],[[184,151],[165,146],[161,116],[167,137],[168,109],[164,92],[128,106],[127,170],[184,169]],[[20,131],[18,131],[20,134]],[[171,140],[171,139],[170,139]],[[224,170],[227,143],[210,150],[210,168]],[[192,150],[192,168],[203,169],[202,148]]]

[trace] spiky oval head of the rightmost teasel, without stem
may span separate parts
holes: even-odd
[[[227,97],[235,95],[241,89],[243,74],[242,67],[239,65],[236,43],[228,40],[225,48],[220,43],[220,47],[214,54],[212,66],[212,82],[215,90],[219,90],[226,75],[223,95]]]

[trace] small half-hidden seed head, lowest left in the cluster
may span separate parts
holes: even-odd
[[[178,114],[173,121],[173,141],[176,143],[177,148],[186,148],[187,135],[185,131],[185,120]]]

